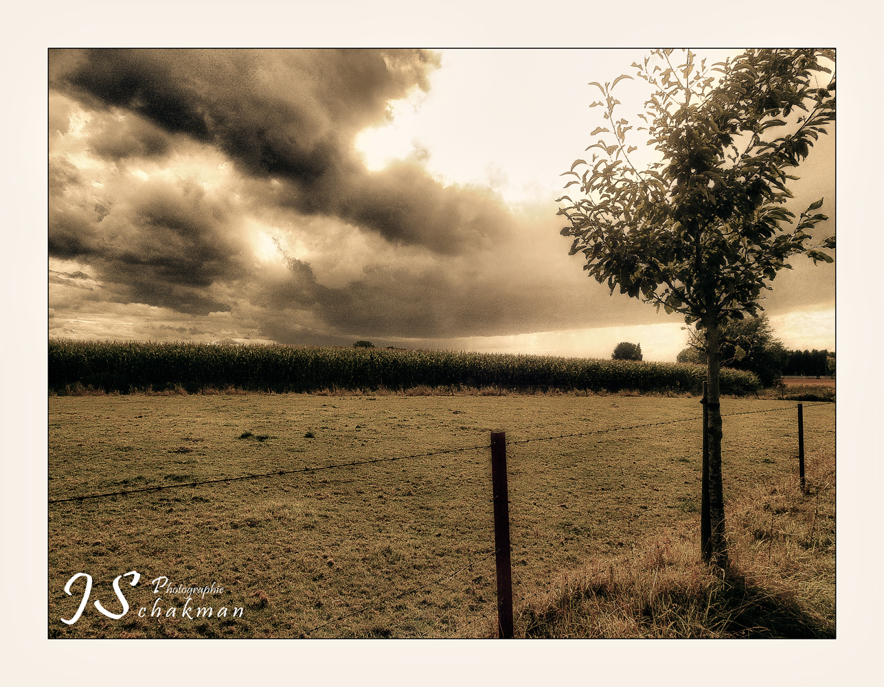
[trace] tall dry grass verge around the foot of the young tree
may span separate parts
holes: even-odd
[[[834,637],[834,454],[728,504],[727,570],[700,561],[697,533],[665,531],[638,553],[595,561],[522,607],[522,637]]]

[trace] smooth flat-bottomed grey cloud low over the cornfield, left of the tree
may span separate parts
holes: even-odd
[[[606,289],[586,289],[567,250],[539,263],[557,240],[557,218],[519,226],[506,243],[471,259],[439,257],[419,269],[402,261],[366,269],[346,288],[317,288],[316,313],[336,332],[373,337],[462,337],[544,332],[641,320],[647,306]],[[524,233],[546,234],[527,240]]]

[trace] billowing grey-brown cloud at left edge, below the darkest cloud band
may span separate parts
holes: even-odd
[[[105,199],[64,161],[50,178],[50,256],[85,260],[114,302],[147,303],[189,314],[228,311],[205,293],[243,272],[230,208],[193,181],[138,181]],[[94,193],[93,193],[94,192]]]

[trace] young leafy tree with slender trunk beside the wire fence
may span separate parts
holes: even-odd
[[[677,64],[681,62],[681,64]],[[809,246],[808,233],[827,219],[816,210],[784,207],[792,197],[787,173],[809,155],[819,134],[834,121],[833,50],[747,50],[707,66],[687,51],[653,50],[637,77],[651,86],[643,120],[633,132],[615,118],[619,103],[613,83],[592,83],[603,100],[603,134],[587,148],[592,158],[576,160],[570,172],[582,198],[563,195],[559,214],[573,236],[571,255],[583,253],[583,269],[611,289],[684,315],[705,330],[708,365],[709,532],[706,561],[727,565],[721,484],[719,326],[728,319],[758,315],[762,289],[790,256],[832,262],[823,252],[834,236]],[[629,145],[644,131],[659,160],[633,164]],[[575,172],[585,167],[583,173]],[[701,530],[702,532],[702,530]]]

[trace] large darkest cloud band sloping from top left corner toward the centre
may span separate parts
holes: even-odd
[[[418,164],[368,172],[355,134],[388,101],[429,88],[438,57],[418,50],[89,50],[50,53],[50,86],[147,123],[110,118],[101,156],[158,154],[156,127],[222,150],[256,179],[278,179],[276,202],[439,253],[499,236],[507,215],[470,189],[442,187]],[[136,119],[136,121],[138,121]],[[270,193],[270,192],[268,192]]]

